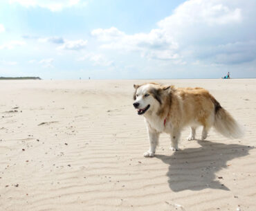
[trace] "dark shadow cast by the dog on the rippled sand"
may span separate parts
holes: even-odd
[[[156,155],[156,158],[169,164],[167,176],[170,189],[174,192],[205,188],[229,190],[224,184],[225,178],[216,173],[230,166],[229,160],[248,155],[252,147],[207,140],[197,142],[201,147],[183,149],[172,156]]]

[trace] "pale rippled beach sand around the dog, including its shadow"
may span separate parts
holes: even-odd
[[[0,81],[0,210],[256,210],[256,80],[155,81],[208,89],[246,136],[184,129],[144,158],[146,80]]]

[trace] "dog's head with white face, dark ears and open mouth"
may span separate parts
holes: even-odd
[[[157,112],[163,103],[163,95],[169,88],[170,86],[155,83],[134,84],[134,108],[138,110],[138,115]]]

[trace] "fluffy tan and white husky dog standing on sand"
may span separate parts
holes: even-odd
[[[170,149],[178,150],[181,129],[191,127],[188,140],[194,140],[196,127],[202,125],[201,140],[207,138],[213,126],[226,137],[240,138],[244,133],[234,118],[203,88],[175,88],[156,83],[134,84],[134,107],[145,117],[149,136],[149,150],[145,157],[153,157],[159,134],[170,134]]]

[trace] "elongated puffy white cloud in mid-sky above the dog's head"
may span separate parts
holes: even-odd
[[[174,53],[178,44],[161,29],[153,29],[150,33],[126,35],[117,28],[95,29],[91,35],[97,37],[103,44],[102,48],[125,49],[127,51],[140,51],[142,56],[157,59],[176,59]]]

